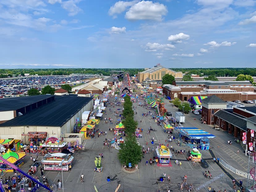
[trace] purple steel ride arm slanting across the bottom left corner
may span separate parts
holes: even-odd
[[[0,156],[0,160],[3,161],[4,164],[6,165],[9,165],[11,168],[15,169],[16,171],[18,171],[19,173],[25,175],[26,177],[28,177],[29,179],[31,179],[32,181],[34,181],[36,184],[38,184],[39,186],[45,188],[46,190],[49,190],[50,192],[52,192],[52,190],[45,186],[43,183],[41,183],[40,181],[37,181],[34,177],[31,177],[28,173],[24,172],[22,169],[20,169],[19,167],[17,167],[16,165],[10,163],[9,161],[3,159],[1,156]],[[35,187],[30,191],[30,192],[36,192],[36,190],[39,188],[38,185],[35,185]],[[0,191],[1,192],[5,192],[4,190],[4,186],[2,185],[2,183],[0,182]],[[25,192],[24,189],[20,189],[20,192]]]

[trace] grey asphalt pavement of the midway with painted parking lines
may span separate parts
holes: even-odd
[[[165,100],[165,107],[168,111],[174,112],[177,111],[177,108],[173,108],[168,100]],[[153,136],[155,139],[159,140],[160,143],[164,143],[165,139],[168,139],[168,134],[165,134],[163,129],[160,126],[157,126],[155,122],[149,122],[149,117],[142,117],[142,113],[147,110],[143,107],[139,107],[138,103],[134,103],[134,106],[137,106],[137,115],[135,114],[135,119],[139,122],[139,127],[142,127],[143,137],[139,138],[140,145],[146,146],[146,142],[150,143],[150,138]],[[117,109],[116,107],[115,109]],[[113,109],[113,108],[112,108]],[[109,106],[106,109],[106,113],[103,115],[104,117],[112,117],[113,121],[116,122],[117,118],[115,117],[112,111],[109,111]],[[195,118],[195,120],[194,120]],[[237,149],[239,148],[242,151],[242,148],[238,144],[234,144],[229,146],[227,144],[227,140],[234,140],[232,135],[229,135],[224,131],[216,131],[208,125],[203,125],[199,121],[200,116],[195,116],[194,114],[186,115],[186,123],[183,125],[185,127],[198,127],[203,130],[207,130],[211,134],[215,134],[217,136],[216,139],[211,139],[211,147],[212,151],[215,153],[215,156],[219,156],[224,161],[233,165],[237,169],[247,170],[247,157],[243,154],[237,155]],[[140,123],[142,120],[142,123]],[[115,124],[111,125],[112,127]],[[101,120],[100,123],[96,126],[97,129],[108,131],[110,124],[105,124],[104,120]],[[153,129],[157,131],[151,132],[151,135],[147,134],[147,128],[151,126]],[[173,136],[177,136],[177,132],[173,134]],[[107,138],[112,139],[114,137],[113,132],[107,133]],[[176,166],[174,160],[177,159],[186,159],[188,154],[174,156],[172,160],[172,166],[165,167],[157,167],[156,165],[146,166],[146,160],[149,160],[151,157],[155,156],[154,152],[150,152],[145,155],[145,158],[139,163],[139,169],[135,173],[126,173],[122,171],[122,165],[119,163],[117,159],[117,150],[113,148],[103,147],[103,141],[105,140],[105,136],[100,136],[100,138],[96,139],[87,139],[84,141],[83,145],[85,146],[85,150],[75,151],[74,157],[75,160],[72,163],[71,172],[63,172],[63,181],[64,181],[64,191],[94,191],[94,186],[98,189],[98,191],[115,191],[118,184],[121,184],[119,191],[124,190],[125,192],[155,192],[157,189],[161,191],[167,191],[170,189],[171,191],[181,191],[179,189],[178,184],[183,181],[183,176],[186,174],[188,176],[187,183],[193,183],[194,189],[201,184],[207,182],[208,180],[204,178],[203,169],[199,163],[196,163],[196,166],[192,166],[192,162],[182,161],[182,166]],[[158,142],[156,142],[158,143]],[[172,145],[177,149],[181,149],[181,147],[177,147],[177,145],[172,142]],[[148,144],[149,147],[152,147],[152,144]],[[156,145],[155,145],[156,146]],[[219,146],[219,147],[218,147]],[[156,147],[154,147],[156,148]],[[188,148],[186,149],[186,153]],[[103,171],[101,173],[95,173],[93,169],[95,168],[94,159],[98,156],[99,153],[104,154],[103,159]],[[201,151],[203,158],[211,158],[209,151]],[[25,164],[23,165],[23,169],[27,171],[31,166],[31,162],[29,160],[29,155],[25,158]],[[39,158],[42,158],[39,157]],[[223,173],[220,167],[217,164],[213,164],[212,160],[207,161],[209,164],[209,170],[213,177]],[[81,174],[85,175],[85,182],[80,183]],[[159,177],[164,173],[171,177],[170,184],[168,181],[165,183],[159,181]],[[40,173],[37,173],[38,175]],[[6,173],[6,176],[11,175],[10,173]],[[62,180],[62,174],[59,171],[45,171],[46,178],[57,183],[57,180]],[[241,177],[233,175],[238,181]],[[107,177],[110,177],[111,181],[107,182]],[[246,185],[246,179],[242,178],[244,185]],[[210,185],[215,190],[219,190],[220,180],[213,182]],[[227,191],[231,191],[232,189],[232,180],[224,175],[223,178],[223,189],[227,189]],[[59,190],[61,191],[61,190]],[[184,190],[185,191],[185,190]],[[193,190],[195,191],[195,190]],[[206,191],[200,190],[200,191]]]

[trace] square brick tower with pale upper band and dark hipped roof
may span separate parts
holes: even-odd
[[[215,95],[202,99],[201,103],[202,120],[208,125],[214,124],[214,113],[216,113],[220,109],[227,108],[227,102]]]

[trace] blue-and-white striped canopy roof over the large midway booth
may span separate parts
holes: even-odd
[[[175,127],[176,128],[176,127]],[[177,128],[180,134],[190,138],[190,139],[203,139],[203,138],[215,138],[216,136],[210,134],[204,130],[198,129],[196,127],[181,127]]]

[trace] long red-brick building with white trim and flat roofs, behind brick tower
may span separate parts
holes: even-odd
[[[225,101],[254,100],[256,92],[250,81],[180,81],[163,85],[163,93],[171,99],[187,101],[192,96],[216,95]]]

